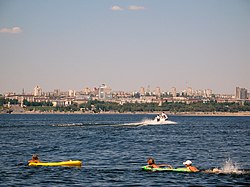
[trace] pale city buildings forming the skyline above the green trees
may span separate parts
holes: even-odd
[[[6,99],[18,100],[21,106],[23,106],[25,100],[28,102],[52,102],[53,106],[68,106],[73,103],[81,104],[89,100],[117,102],[121,105],[124,103],[159,103],[161,105],[163,102],[183,102],[189,104],[209,102],[211,100],[217,102],[245,102],[250,100],[250,94],[247,92],[247,89],[240,87],[236,87],[235,95],[223,95],[214,94],[211,89],[193,90],[191,87],[182,92],[177,92],[175,87],[170,92],[163,92],[160,87],[156,87],[154,91],[144,87],[135,92],[112,91],[105,84],[98,88],[85,88],[81,91],[60,91],[55,89],[53,92],[43,92],[40,86],[36,86],[31,94],[26,94],[23,91],[22,94],[6,93],[4,97]]]

